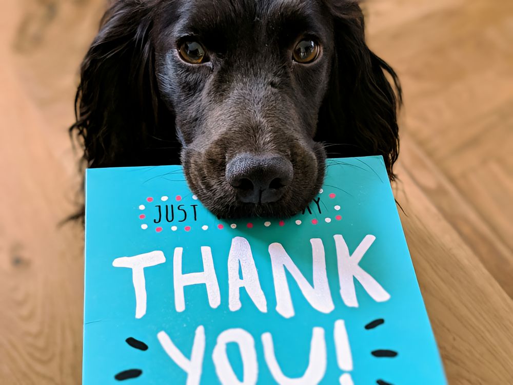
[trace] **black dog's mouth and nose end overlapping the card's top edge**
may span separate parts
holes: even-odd
[[[300,213],[324,181],[323,151],[243,152],[222,162],[199,152],[185,153],[184,171],[190,188],[218,218],[288,218]]]

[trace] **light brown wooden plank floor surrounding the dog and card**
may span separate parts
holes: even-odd
[[[80,383],[83,236],[57,224],[78,183],[66,131],[76,69],[103,7],[2,1],[3,385]],[[447,376],[513,384],[513,1],[365,8],[369,44],[405,89],[396,196]]]

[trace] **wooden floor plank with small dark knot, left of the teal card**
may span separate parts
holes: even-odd
[[[6,7],[12,19],[4,14],[4,28],[16,23]],[[71,209],[70,182],[6,56],[13,30],[0,37],[0,306],[7,310],[0,312],[0,378],[9,385],[80,383],[81,235],[57,226]]]

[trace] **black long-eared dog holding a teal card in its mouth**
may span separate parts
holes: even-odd
[[[401,89],[357,1],[117,0],[81,75],[87,166],[181,162],[220,217],[298,213],[328,146],[382,155],[393,179]]]

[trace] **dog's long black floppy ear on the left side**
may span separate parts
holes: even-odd
[[[82,63],[70,133],[88,167],[179,161],[174,118],[156,84],[149,2],[115,0]]]

